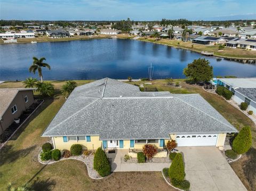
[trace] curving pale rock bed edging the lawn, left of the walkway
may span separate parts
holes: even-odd
[[[101,177],[99,175],[99,173],[97,171],[95,171],[93,169],[93,155],[89,155],[89,156],[85,156],[85,155],[79,155],[79,156],[70,156],[68,157],[67,159],[64,158],[64,157],[61,157],[61,159],[59,161],[54,161],[54,160],[49,160],[49,161],[42,161],[41,158],[40,158],[40,154],[42,153],[43,151],[41,150],[37,156],[37,160],[39,163],[41,164],[53,164],[53,163],[56,163],[56,162],[59,162],[59,161],[63,161],[63,160],[68,160],[68,159],[73,159],[73,160],[78,160],[78,161],[81,161],[83,162],[86,167],[87,167],[87,171],[88,171],[88,175],[90,178],[92,179],[102,179],[102,178],[105,178],[105,177]],[[84,157],[83,157],[84,156]]]

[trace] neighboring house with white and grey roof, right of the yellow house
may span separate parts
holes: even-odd
[[[256,78],[218,78],[217,86],[228,88],[237,104],[246,102],[247,110],[256,114]]]

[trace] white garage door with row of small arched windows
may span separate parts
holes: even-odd
[[[178,146],[215,146],[218,134],[177,135]]]

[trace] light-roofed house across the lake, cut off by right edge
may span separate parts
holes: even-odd
[[[256,39],[239,39],[229,40],[227,42],[228,48],[242,48],[250,49],[251,51],[256,51]]]

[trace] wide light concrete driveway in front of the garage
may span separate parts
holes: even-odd
[[[178,150],[185,159],[191,190],[247,190],[218,148],[178,147]]]

